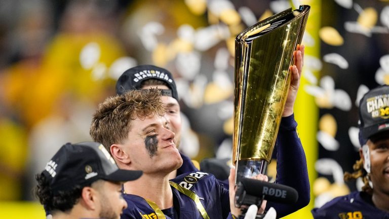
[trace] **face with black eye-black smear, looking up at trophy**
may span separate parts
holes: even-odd
[[[131,121],[128,138],[121,144],[132,169],[168,174],[182,165],[169,120],[152,115]]]

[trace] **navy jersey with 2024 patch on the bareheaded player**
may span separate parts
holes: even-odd
[[[179,219],[203,219],[204,212],[211,219],[232,218],[229,209],[229,194],[212,174],[191,172],[170,181],[176,217]],[[162,213],[153,202],[142,197],[123,194],[128,207],[121,218],[158,218]],[[199,207],[200,204],[200,207]],[[203,212],[203,213],[202,213]],[[203,215],[202,215],[203,214]],[[165,215],[167,219],[174,219]]]

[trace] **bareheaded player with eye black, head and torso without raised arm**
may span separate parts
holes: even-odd
[[[187,172],[169,181],[169,174],[183,161],[165,114],[160,91],[146,89],[109,97],[93,115],[92,138],[102,142],[120,168],[143,171],[138,180],[124,184],[128,208],[122,218],[238,216],[240,209],[233,199],[230,202],[233,196],[213,175]],[[255,178],[267,179],[264,175]],[[264,207],[265,203],[259,211]]]

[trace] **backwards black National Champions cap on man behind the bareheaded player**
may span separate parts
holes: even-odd
[[[127,69],[116,82],[116,94],[124,94],[129,90],[141,89],[141,83],[148,79],[165,82],[170,90],[161,90],[162,95],[171,96],[178,100],[176,83],[172,74],[165,68],[154,65],[138,65]]]

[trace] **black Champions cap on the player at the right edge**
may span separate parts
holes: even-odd
[[[359,103],[359,141],[361,146],[380,132],[389,130],[389,86],[367,92]]]

